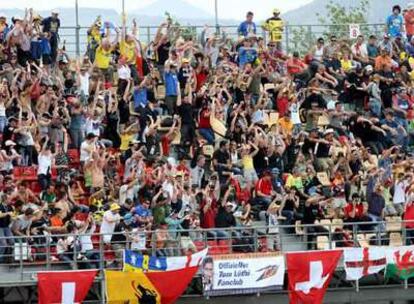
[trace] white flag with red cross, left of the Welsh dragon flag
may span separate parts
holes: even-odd
[[[346,279],[357,281],[369,274],[378,273],[387,264],[384,247],[345,248],[344,267]]]

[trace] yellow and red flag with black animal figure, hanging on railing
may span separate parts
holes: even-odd
[[[173,304],[184,293],[198,267],[171,271],[105,270],[108,303]]]

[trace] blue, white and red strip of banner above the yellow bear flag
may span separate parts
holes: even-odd
[[[124,250],[124,271],[166,271],[185,267],[200,266],[207,255],[208,248],[188,256],[156,257],[142,255],[132,250]]]

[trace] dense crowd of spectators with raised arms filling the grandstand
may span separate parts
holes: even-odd
[[[278,250],[280,224],[414,219],[414,5],[381,36],[306,54],[283,50],[278,10],[248,12],[237,39],[167,19],[144,44],[126,23],[97,18],[74,58],[58,12],[0,14],[0,259],[11,236],[50,237],[70,262],[97,258],[94,232],[117,254],[171,255],[204,229],[243,243],[227,228],[256,221]]]

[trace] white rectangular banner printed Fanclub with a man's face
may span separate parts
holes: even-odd
[[[257,293],[283,287],[285,263],[271,253],[218,255],[204,259],[202,275],[206,296]]]

